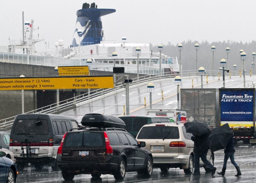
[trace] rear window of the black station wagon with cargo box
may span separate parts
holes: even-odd
[[[105,144],[103,133],[95,132],[69,133],[65,140],[63,147],[103,147]]]

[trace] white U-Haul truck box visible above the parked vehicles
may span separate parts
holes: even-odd
[[[147,109],[148,116],[168,117],[170,121],[187,121],[186,110],[182,109]]]

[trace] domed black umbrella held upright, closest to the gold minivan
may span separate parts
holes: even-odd
[[[192,133],[194,135],[202,136],[204,134],[209,134],[211,132],[208,124],[201,123],[199,121],[196,122],[187,122],[184,123],[186,128],[186,132]]]

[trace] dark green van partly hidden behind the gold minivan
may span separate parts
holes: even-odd
[[[125,130],[136,138],[141,127],[149,122],[169,122],[170,119],[162,116],[119,116],[125,123]]]

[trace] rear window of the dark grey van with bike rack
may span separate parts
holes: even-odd
[[[16,135],[46,135],[49,133],[46,119],[18,119],[15,123]]]

